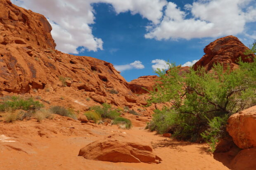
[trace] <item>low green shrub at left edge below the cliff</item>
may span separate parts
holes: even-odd
[[[11,96],[0,103],[0,111],[23,109],[35,112],[35,110],[42,107],[43,104],[39,101],[34,101],[33,98],[22,99],[19,96]]]

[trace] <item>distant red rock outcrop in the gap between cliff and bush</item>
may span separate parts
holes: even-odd
[[[154,85],[156,84],[156,80],[159,79],[158,76],[141,76],[135,80],[130,81],[129,87],[133,93],[136,94],[147,94],[149,91],[154,90]],[[142,89],[145,88],[145,89]]]

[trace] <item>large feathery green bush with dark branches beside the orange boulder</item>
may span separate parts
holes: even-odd
[[[199,68],[179,76],[180,67],[169,64],[168,74],[157,70],[161,83],[151,92],[150,103],[171,102],[171,108],[155,110],[147,128],[173,137],[199,141],[204,138],[214,150],[225,136],[227,118],[256,104],[256,61],[239,62],[239,69],[224,71],[221,64],[211,71]]]

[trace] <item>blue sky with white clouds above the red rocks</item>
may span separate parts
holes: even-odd
[[[58,50],[110,62],[127,81],[154,75],[167,60],[191,65],[218,37],[256,39],[256,0],[12,2],[48,18]]]

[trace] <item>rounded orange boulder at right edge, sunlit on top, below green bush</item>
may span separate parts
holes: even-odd
[[[256,147],[256,106],[231,115],[227,131],[238,147]]]

